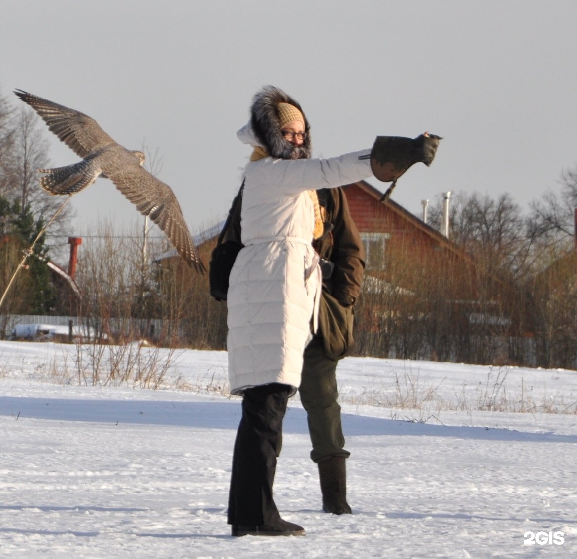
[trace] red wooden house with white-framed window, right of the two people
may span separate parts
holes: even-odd
[[[492,362],[520,329],[520,297],[365,181],[344,186],[366,252],[356,316],[365,355]],[[508,353],[508,350],[505,350]]]

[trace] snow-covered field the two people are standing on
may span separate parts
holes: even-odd
[[[0,342],[2,558],[577,556],[574,371],[347,358],[354,514],[321,511],[293,399],[275,498],[307,535],[232,538],[226,354],[172,354],[151,390],[91,385],[77,352]]]

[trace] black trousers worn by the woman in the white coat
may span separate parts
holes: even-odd
[[[228,524],[262,526],[280,518],[272,497],[290,387],[271,383],[245,391],[234,443]]]

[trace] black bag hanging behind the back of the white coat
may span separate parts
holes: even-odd
[[[240,241],[240,235],[236,234],[234,227],[231,226],[231,219],[240,216],[242,204],[242,190],[245,182],[242,181],[241,189],[237,196],[234,197],[233,204],[228,211],[228,216],[222,231],[216,241],[216,246],[211,254],[211,261],[208,265],[208,282],[211,288],[211,295],[216,301],[226,301],[228,294],[228,277],[233,269],[234,261],[237,254],[244,246]],[[240,225],[240,223],[238,223]],[[229,230],[230,229],[230,230]],[[236,234],[236,237],[235,237]],[[227,240],[224,241],[225,236]]]

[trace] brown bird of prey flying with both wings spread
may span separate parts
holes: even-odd
[[[44,190],[51,194],[76,194],[98,177],[109,178],[140,213],[160,227],[189,267],[201,273],[205,271],[174,192],[142,167],[143,152],[123,148],[93,118],[80,111],[21,89],[14,93],[38,112],[62,142],[82,157],[68,167],[39,169],[44,173],[40,179]]]

